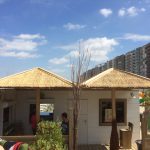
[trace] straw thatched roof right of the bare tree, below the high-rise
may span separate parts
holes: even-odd
[[[150,79],[114,68],[83,82],[87,88],[150,88]]]

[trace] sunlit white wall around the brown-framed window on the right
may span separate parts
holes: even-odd
[[[111,92],[110,91],[86,91],[83,93],[82,97],[88,99],[88,121],[87,121],[88,122],[88,131],[87,131],[88,144],[99,144],[99,143],[109,144],[111,126],[99,126],[99,99],[111,98]],[[128,91],[117,92],[116,98],[127,99],[127,122],[130,121],[134,124],[133,138],[132,138],[132,141],[134,142],[136,139],[140,138],[140,119],[139,119],[138,100],[132,99],[130,92]],[[126,127],[118,126],[118,133],[120,128],[126,128]],[[80,143],[80,144],[84,144],[84,143]]]

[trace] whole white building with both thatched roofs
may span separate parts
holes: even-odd
[[[79,144],[109,144],[112,118],[117,119],[118,130],[132,122],[132,142],[140,138],[138,92],[150,87],[150,79],[111,68],[81,86]],[[1,78],[0,88],[1,129],[8,120],[21,121],[24,134],[31,134],[29,114],[33,104],[37,106],[37,120],[40,104],[44,108],[47,103],[54,104],[54,120],[58,120],[62,112],[68,112],[73,99],[70,81],[41,68]],[[4,113],[13,115],[4,120]]]

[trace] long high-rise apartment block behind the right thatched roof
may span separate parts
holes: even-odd
[[[116,68],[150,78],[150,43],[115,57],[85,72],[82,77],[89,79],[109,68]]]

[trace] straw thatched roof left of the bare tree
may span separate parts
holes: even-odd
[[[34,68],[0,79],[0,88],[70,88],[72,83],[52,72]]]

